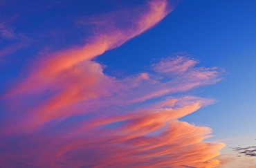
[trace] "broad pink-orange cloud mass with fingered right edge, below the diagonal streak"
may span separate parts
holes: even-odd
[[[163,59],[159,64],[165,60],[170,61]],[[33,106],[23,107],[26,112],[22,117],[15,124],[5,125],[7,137],[19,132],[25,140],[33,140],[31,145],[38,145],[26,149],[28,151],[23,151],[22,155],[10,153],[10,157],[20,161],[31,159],[34,153],[39,158],[26,164],[39,167],[214,167],[219,161],[212,158],[219,154],[217,151],[223,144],[203,142],[210,137],[208,127],[196,127],[178,120],[213,100],[193,96],[169,96],[153,104],[146,100],[187,91],[193,86],[214,84],[219,80],[217,72],[217,69],[190,67],[187,73],[161,82],[155,79],[161,79],[161,73],[143,73],[117,80],[104,75],[102,66],[96,62],[74,66],[72,71],[65,71],[56,83],[46,87],[53,91],[51,96]],[[193,78],[188,77],[194,73]],[[43,94],[42,84],[33,88],[35,91],[19,93],[20,103],[23,104],[22,99],[26,102],[28,97]],[[14,100],[12,97],[8,97],[10,103]],[[15,108],[18,113],[19,106]],[[40,132],[50,134],[42,137]],[[8,145],[4,148],[8,149]],[[48,149],[51,154],[46,154]],[[7,155],[4,162],[8,160],[12,159]]]

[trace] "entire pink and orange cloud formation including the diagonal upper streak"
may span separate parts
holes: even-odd
[[[117,79],[93,61],[171,12],[164,0],[151,1],[143,9],[125,11],[128,26],[123,27],[115,26],[116,15],[106,15],[111,25],[93,33],[85,46],[39,58],[28,67],[30,73],[1,96],[6,104],[1,166],[219,165],[213,158],[224,144],[203,141],[211,129],[178,120],[214,100],[172,94],[218,82],[220,69],[195,67],[196,59],[176,56],[161,59],[148,73]],[[98,31],[105,23],[95,20],[91,24]]]

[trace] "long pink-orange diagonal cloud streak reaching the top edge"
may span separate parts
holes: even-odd
[[[33,66],[33,70],[31,70],[36,72],[30,74],[28,80],[24,82],[24,86],[19,86],[19,90],[13,88],[8,94],[11,95],[26,91],[26,89],[31,89],[31,87],[34,88],[39,85],[38,81],[40,85],[42,85],[42,82],[49,84],[49,82],[53,82],[58,75],[72,69],[73,66],[89,61],[93,59],[93,57],[102,55],[106,50],[122,45],[125,41],[140,35],[142,32],[161,21],[163,17],[170,12],[166,7],[167,1],[165,0],[151,1],[148,8],[146,8],[146,13],[141,14],[135,21],[132,20],[130,23],[132,26],[128,30],[127,28],[116,28],[111,30],[111,32],[107,30],[102,33],[98,32],[97,35],[92,37],[92,40],[83,47],[64,50],[40,60],[38,64]],[[145,8],[138,8],[136,12],[140,12],[140,10],[145,10]],[[134,15],[134,13],[124,13],[123,15]],[[35,66],[37,68],[35,68]]]

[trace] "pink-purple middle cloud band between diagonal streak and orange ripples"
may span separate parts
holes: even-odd
[[[172,61],[176,62],[176,59]],[[182,59],[185,60],[184,64],[190,61],[187,57]],[[159,64],[165,61],[170,62],[170,59],[163,59]],[[141,73],[117,80],[105,75],[102,66],[93,61],[82,62],[54,77],[51,77],[51,74],[45,76],[42,71],[35,72],[25,82],[16,85],[16,93],[10,90],[10,94],[14,94],[10,99],[15,97],[15,100],[19,99],[22,104],[39,99],[38,102],[34,102],[35,106],[30,107],[29,104],[26,107],[27,110],[30,109],[27,115],[35,115],[35,117],[30,122],[27,120],[26,123],[21,122],[22,126],[17,126],[19,129],[25,126],[36,129],[44,122],[57,118],[65,119],[72,115],[82,115],[114,104],[127,106],[127,104],[145,102],[170,93],[188,91],[195,86],[214,84],[220,80],[217,69],[192,67],[176,77],[166,76],[165,73]],[[159,77],[165,78],[165,82],[156,80]],[[190,102],[190,99],[194,98],[186,97],[187,102]],[[211,102],[212,100],[200,100],[199,106]],[[81,109],[87,110],[75,110],[80,109],[80,104],[83,104]],[[17,108],[21,107],[18,105]]]

